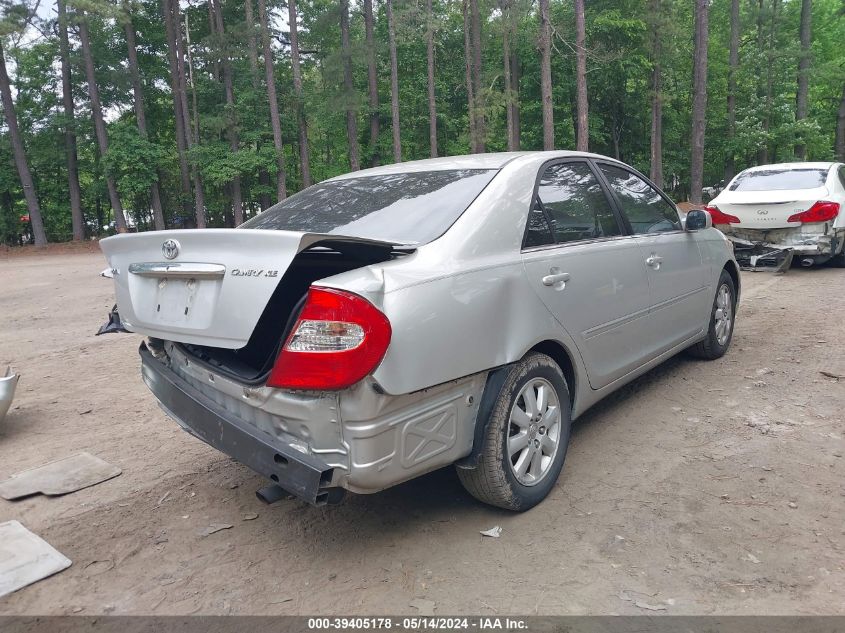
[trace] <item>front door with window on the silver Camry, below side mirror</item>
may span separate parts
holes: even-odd
[[[706,326],[712,292],[695,233],[683,230],[675,205],[644,178],[619,165],[599,163],[623,220],[640,247],[648,275],[649,356],[689,339]]]

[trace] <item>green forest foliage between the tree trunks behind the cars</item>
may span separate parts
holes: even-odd
[[[257,19],[257,2],[254,13]],[[518,58],[520,140],[523,149],[542,147],[540,68],[536,3],[512,0],[510,19],[515,31],[511,50]],[[762,11],[760,9],[762,6]],[[705,184],[724,177],[729,157],[737,169],[754,164],[765,152],[770,162],[791,160],[797,142],[807,146],[811,160],[833,158],[837,109],[845,83],[845,16],[841,0],[813,3],[810,72],[810,113],[795,119],[799,55],[799,2],[742,0],[740,67],[736,73],[736,132],[727,123],[730,0],[715,0],[710,8],[709,80]],[[311,170],[317,180],[349,169],[345,112],[358,116],[363,165],[384,162],[392,155],[390,129],[390,66],[387,24],[382,0],[375,2],[381,133],[371,146],[367,95],[367,57],[363,7],[350,4],[354,90],[343,89],[339,11],[336,0],[298,3],[302,51],[303,107],[311,148]],[[483,111],[489,151],[505,150],[506,105],[499,0],[481,0]],[[776,8],[776,10],[775,10]],[[54,20],[26,30],[31,7],[0,0],[0,38],[14,84],[17,114],[30,167],[35,178],[50,239],[70,237],[64,115],[58,76],[59,47]],[[183,3],[190,34],[189,108],[196,94],[199,144],[189,155],[199,169],[210,226],[231,223],[230,183],[241,178],[247,212],[257,211],[275,196],[275,150],[269,122],[265,76],[259,44],[258,74],[249,62],[248,37],[255,24],[244,18],[244,0],[223,0],[226,35],[210,32],[206,0]],[[168,222],[182,214],[182,203],[193,201],[181,191],[176,151],[170,70],[160,0],[70,0],[71,72],[76,116],[83,209],[89,232],[104,230],[110,221],[104,174],[116,177],[129,215],[140,228],[150,223],[150,187],[158,182]],[[295,97],[290,62],[287,3],[270,0],[275,83],[284,140],[289,191],[301,188]],[[649,171],[651,131],[652,31],[659,34],[663,77],[663,161],[667,188],[676,198],[688,191],[692,101],[692,3],[660,0],[592,0],[586,7],[590,149],[617,156]],[[73,24],[84,12],[96,60],[97,82],[108,122],[109,151],[98,156],[88,94]],[[438,152],[469,151],[467,95],[464,83],[464,29],[460,2],[434,0],[435,92]],[[46,15],[46,12],[41,12]],[[138,133],[127,72],[124,24],[131,15],[137,34],[149,137]],[[426,76],[425,0],[396,0],[399,102],[405,160],[429,155]],[[552,0],[552,83],[555,137],[561,149],[574,147],[575,29],[571,0]],[[758,32],[758,22],[760,30]],[[185,30],[185,24],[182,25]],[[25,33],[25,36],[22,34]],[[228,57],[234,78],[235,106],[227,109],[219,62]],[[239,149],[227,138],[227,121],[234,120]],[[0,240],[13,242],[25,212],[22,191],[6,138],[0,127]]]

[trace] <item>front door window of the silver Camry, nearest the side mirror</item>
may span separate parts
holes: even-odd
[[[615,165],[601,165],[622,213],[636,234],[680,231],[678,212],[660,193],[639,176]]]

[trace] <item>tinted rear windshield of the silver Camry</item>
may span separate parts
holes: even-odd
[[[322,182],[241,227],[426,244],[443,235],[495,175],[490,169],[454,169]]]

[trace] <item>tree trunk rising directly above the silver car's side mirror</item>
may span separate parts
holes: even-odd
[[[695,51],[693,58],[692,157],[690,201],[701,204],[704,181],[704,129],[707,112],[707,36],[709,0],[695,0]]]

